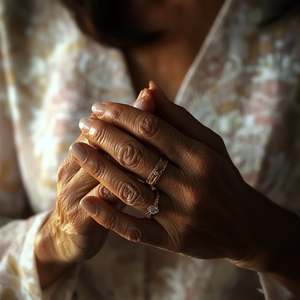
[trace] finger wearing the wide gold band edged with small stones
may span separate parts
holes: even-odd
[[[139,141],[102,120],[83,118],[80,120],[79,127],[88,140],[101,147],[116,159],[121,166],[134,173],[143,181],[148,178],[160,159],[158,155]],[[170,180],[174,176],[180,176],[179,173],[176,167],[168,164],[157,187],[164,190],[166,186],[169,186]]]

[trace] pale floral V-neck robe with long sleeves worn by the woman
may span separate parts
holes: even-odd
[[[256,1],[227,0],[175,103],[223,138],[244,179],[300,212],[300,19],[259,26]],[[0,300],[283,300],[266,274],[122,239],[41,291],[35,235],[57,170],[98,101],[135,100],[122,53],[82,35],[58,0],[0,0]],[[22,217],[29,205],[37,213]],[[12,221],[11,221],[12,220]]]

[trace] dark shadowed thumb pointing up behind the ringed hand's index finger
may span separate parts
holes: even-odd
[[[229,158],[224,142],[218,134],[201,124],[183,107],[171,102],[154,81],[149,82],[149,90],[155,103],[156,116],[190,139],[201,142],[225,158]]]

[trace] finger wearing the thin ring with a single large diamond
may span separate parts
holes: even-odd
[[[74,160],[95,179],[106,186],[125,204],[147,212],[155,193],[134,177],[122,172],[91,146],[74,143],[70,147]]]

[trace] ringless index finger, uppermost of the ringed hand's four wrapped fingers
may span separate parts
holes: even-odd
[[[96,103],[94,113],[103,121],[154,147],[170,161],[184,167],[189,139],[171,125],[151,113],[118,103]]]

